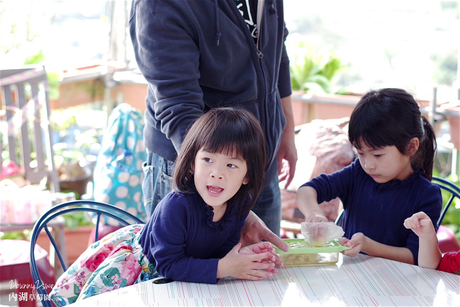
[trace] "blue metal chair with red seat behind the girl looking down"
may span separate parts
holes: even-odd
[[[443,221],[444,215],[446,215],[450,204],[454,201],[454,198],[457,197],[457,199],[460,200],[460,187],[454,185],[452,182],[448,180],[445,180],[437,176],[433,176],[433,179],[431,181],[435,185],[439,186],[442,190],[450,193],[450,196],[447,199],[447,203],[444,205],[441,211],[441,215],[437,220],[437,225],[439,225],[439,229],[437,231],[439,249],[442,253],[458,251],[460,250],[460,244],[454,237],[454,232],[452,232],[452,230],[450,230],[446,226],[441,225],[441,222]],[[337,219],[335,220],[335,224],[341,226],[343,213],[344,209],[340,211],[339,215],[337,216]]]

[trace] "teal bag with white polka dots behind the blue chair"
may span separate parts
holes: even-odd
[[[94,168],[93,197],[147,221],[142,197],[142,163],[147,160],[143,133],[144,119],[137,109],[120,104],[112,110]],[[108,217],[104,223],[122,226]]]

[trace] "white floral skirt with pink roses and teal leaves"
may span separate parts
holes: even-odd
[[[57,279],[50,296],[57,306],[137,284],[161,275],[139,244],[145,224],[123,227],[93,243]]]

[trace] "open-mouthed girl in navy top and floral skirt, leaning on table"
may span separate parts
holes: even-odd
[[[263,187],[265,140],[247,110],[218,108],[190,127],[176,160],[174,189],[146,224],[92,244],[57,280],[58,306],[153,278],[217,283],[277,272],[268,242],[242,248],[240,232]]]

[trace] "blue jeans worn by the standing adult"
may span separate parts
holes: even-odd
[[[156,205],[171,191],[173,169],[174,162],[147,151],[142,184],[147,215],[151,216]],[[253,212],[264,221],[273,233],[277,236],[280,235],[281,192],[277,176],[262,190],[259,200],[254,205]]]

